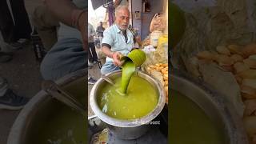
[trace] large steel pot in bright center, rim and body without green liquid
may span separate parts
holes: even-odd
[[[107,82],[100,78],[98,82],[94,84],[94,87],[90,91],[90,106],[94,111],[94,114],[98,116],[103,122],[108,124],[110,130],[121,139],[135,139],[145,134],[146,131],[150,128],[150,125],[147,125],[150,121],[158,116],[161,113],[163,107],[165,106],[166,95],[162,86],[154,79],[151,78],[149,75],[144,74],[142,72],[136,71],[136,75],[141,78],[146,79],[146,81],[150,82],[154,88],[158,91],[158,104],[155,106],[154,110],[147,114],[142,118],[136,118],[133,120],[121,120],[117,118],[112,118],[105,113],[98,106],[97,98],[99,96],[99,92],[102,90],[104,86],[106,86]],[[111,79],[115,79],[122,76],[122,70],[117,70],[111,72],[110,74],[106,75]]]

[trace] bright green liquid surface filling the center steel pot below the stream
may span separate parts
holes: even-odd
[[[99,92],[98,106],[112,118],[142,118],[158,104],[158,91],[144,78],[134,75],[130,78],[127,94],[118,92],[121,78],[114,79],[115,85],[106,84]]]

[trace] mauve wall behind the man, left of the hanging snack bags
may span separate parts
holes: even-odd
[[[150,2],[150,13],[142,13],[142,40],[150,34],[150,22],[154,17],[154,14],[163,12],[163,1],[164,0],[148,0]]]

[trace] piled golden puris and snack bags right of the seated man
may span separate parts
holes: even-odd
[[[164,87],[168,103],[168,1],[163,2],[162,12],[154,14],[148,27],[149,33],[142,41],[146,62],[142,71],[150,74]]]

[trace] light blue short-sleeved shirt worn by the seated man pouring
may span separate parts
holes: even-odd
[[[126,34],[128,38],[127,42],[122,31],[116,24],[114,24],[104,31],[102,43],[109,44],[111,46],[111,51],[118,51],[123,55],[127,55],[134,47],[134,36],[128,29],[126,30]],[[113,59],[107,57],[106,61],[113,61]]]

